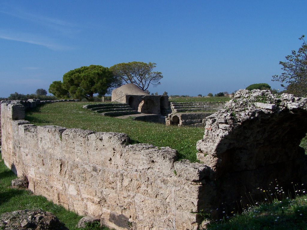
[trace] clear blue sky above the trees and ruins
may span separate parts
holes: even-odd
[[[272,82],[307,36],[307,1],[0,2],[0,97],[48,91],[91,64],[157,63],[169,95]]]

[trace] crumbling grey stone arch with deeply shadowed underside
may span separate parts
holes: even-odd
[[[211,205],[253,199],[278,181],[285,191],[291,182],[307,182],[300,141],[307,132],[307,98],[273,95],[269,90],[239,90],[225,109],[207,117],[197,158],[217,181]],[[293,186],[292,186],[293,188]],[[242,197],[241,197],[242,196]]]

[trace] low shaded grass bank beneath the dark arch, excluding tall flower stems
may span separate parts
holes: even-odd
[[[240,215],[225,216],[207,225],[208,230],[307,229],[307,196],[294,199],[274,199],[272,202],[256,204]]]

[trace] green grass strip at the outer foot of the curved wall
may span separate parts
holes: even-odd
[[[16,175],[5,166],[1,157],[1,152],[0,159],[0,215],[16,210],[41,209],[56,215],[56,217],[58,217],[70,230],[79,229],[76,228],[76,224],[82,218],[81,216],[65,210],[60,205],[53,204],[45,197],[33,195],[30,190],[12,188],[11,181],[16,178]],[[108,228],[95,229],[107,230]]]

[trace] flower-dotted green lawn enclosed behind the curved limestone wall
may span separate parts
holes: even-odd
[[[90,129],[96,132],[122,132],[131,143],[148,143],[176,149],[179,159],[196,161],[196,142],[204,128],[165,126],[158,123],[104,117],[82,106],[88,102],[58,102],[46,104],[26,113],[25,120],[35,125],[59,125],[66,128]]]

